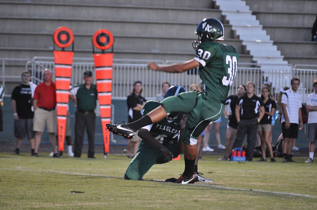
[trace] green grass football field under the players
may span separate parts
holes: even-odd
[[[0,153],[0,209],[316,209],[317,165],[217,161],[203,156],[198,169],[213,183],[165,183],[184,160],[155,165],[144,180],[124,180],[131,159],[31,157]],[[256,158],[258,159],[258,158]],[[84,193],[70,193],[81,191]]]

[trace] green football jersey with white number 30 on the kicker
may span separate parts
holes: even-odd
[[[217,41],[202,42],[196,50],[199,76],[204,83],[207,100],[225,104],[236,77],[239,54],[235,47]]]

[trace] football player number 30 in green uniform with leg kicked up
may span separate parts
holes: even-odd
[[[135,131],[159,122],[170,113],[188,114],[186,126],[180,137],[184,142],[185,169],[176,182],[181,184],[193,183],[198,179],[194,167],[197,138],[211,121],[217,120],[223,113],[230,85],[236,77],[239,59],[235,47],[221,43],[221,40],[224,40],[224,29],[217,19],[204,19],[199,23],[195,34],[198,35],[198,43],[193,42],[196,50],[194,59],[160,66],[151,62],[148,68],[154,71],[181,73],[199,67],[199,77],[204,83],[204,91],[184,92],[165,98],[158,108],[133,123],[107,124],[108,130],[112,133],[131,139]]]

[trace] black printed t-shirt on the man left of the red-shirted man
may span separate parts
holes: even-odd
[[[21,84],[13,89],[11,99],[16,101],[16,112],[19,118],[33,118],[34,112],[31,110],[31,95],[30,85]]]

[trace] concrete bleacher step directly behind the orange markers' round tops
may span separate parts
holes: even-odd
[[[193,36],[195,37],[195,35]],[[197,37],[196,37],[197,38]],[[152,36],[132,36],[132,35],[116,35],[114,36],[114,49],[116,50],[141,50],[141,51],[180,51],[195,52],[192,47],[194,38],[185,37],[152,37]],[[92,34],[74,35],[74,46],[77,49],[92,49]],[[10,47],[12,43],[23,48],[48,48],[54,49],[52,34],[34,34],[28,33],[0,33],[0,46]],[[245,54],[245,48],[241,40],[225,39],[224,44],[235,46],[239,53]],[[56,46],[55,46],[56,47]]]

